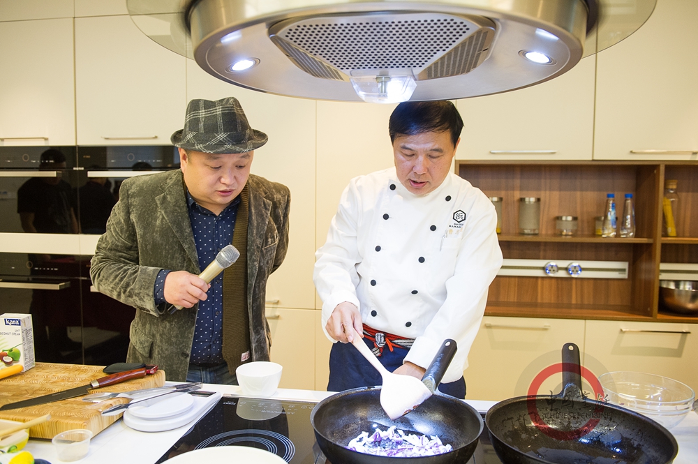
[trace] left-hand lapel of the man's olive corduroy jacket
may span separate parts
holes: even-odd
[[[163,193],[158,195],[155,201],[165,220],[172,227],[174,235],[184,247],[189,260],[193,263],[193,269],[199,269],[199,258],[196,254],[194,235],[191,232],[181,171],[177,170],[177,175],[170,177],[168,183],[165,184]],[[197,272],[199,271],[200,269]]]

